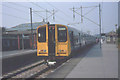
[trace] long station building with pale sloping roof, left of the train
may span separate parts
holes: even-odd
[[[2,51],[36,48],[36,29],[48,22],[35,22],[31,36],[31,24],[24,23],[2,31]]]

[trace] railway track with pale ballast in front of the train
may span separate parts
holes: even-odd
[[[53,69],[60,66],[66,60],[61,61],[55,66],[47,66],[44,60],[34,63],[30,66],[20,68],[19,70],[13,71],[3,75],[3,79],[8,80],[10,78],[44,78],[45,75],[49,74]]]

